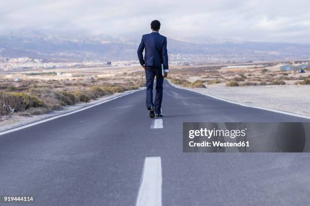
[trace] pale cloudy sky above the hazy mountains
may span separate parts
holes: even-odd
[[[10,0],[0,3],[0,32],[16,29],[112,36],[149,32],[269,42],[310,42],[309,0]]]

